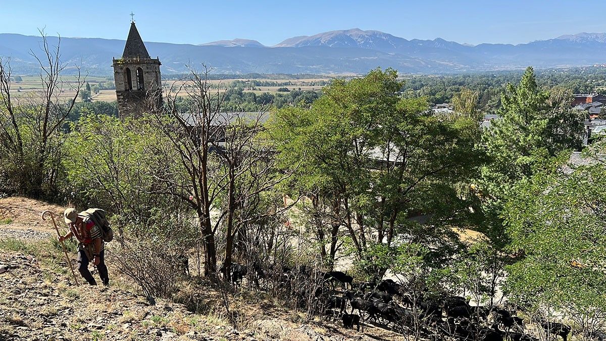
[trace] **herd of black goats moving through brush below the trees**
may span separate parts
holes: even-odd
[[[250,268],[253,271],[249,272],[246,265],[231,265],[231,282],[238,285],[247,277],[259,286],[259,280],[277,277],[274,283],[293,297],[298,309],[340,318],[345,328],[356,326],[359,331],[362,326],[364,331],[364,322],[368,322],[404,334],[418,331],[434,340],[539,340],[525,331],[524,320],[512,309],[472,306],[461,296],[430,298],[424,292],[413,295],[391,279],[358,283],[344,272],[319,272],[308,266],[284,267],[278,274],[258,263]],[[541,328],[545,335],[559,336],[563,341],[567,341],[571,331],[570,326],[558,322],[545,321]]]

